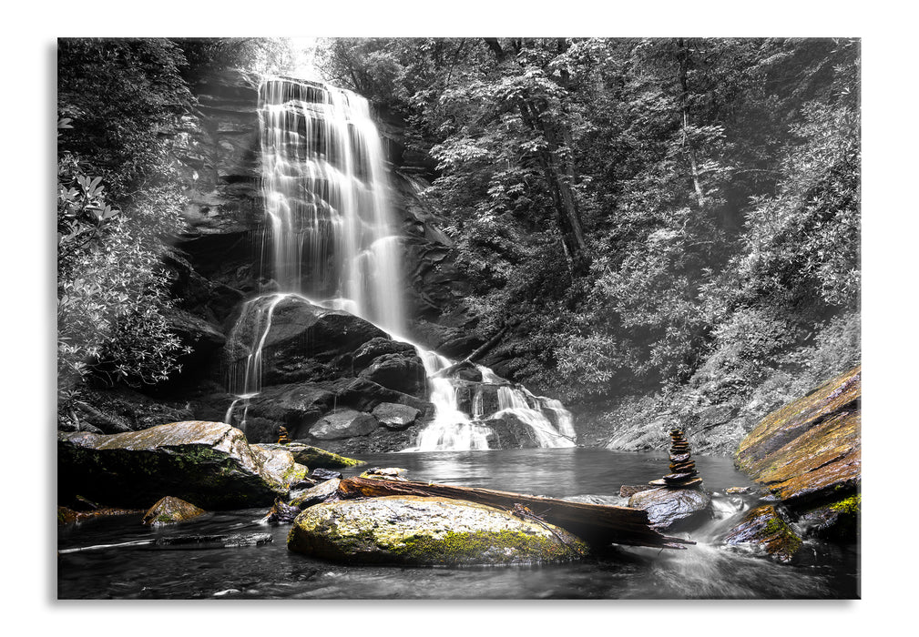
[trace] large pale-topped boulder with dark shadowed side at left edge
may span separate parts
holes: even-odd
[[[271,506],[306,467],[286,451],[250,447],[241,430],[190,420],[113,435],[58,433],[58,497],[119,507],[180,497],[203,508]]]

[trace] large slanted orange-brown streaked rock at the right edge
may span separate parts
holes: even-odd
[[[789,506],[833,502],[861,482],[861,368],[763,419],[734,464]]]

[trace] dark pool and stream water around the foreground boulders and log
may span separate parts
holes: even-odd
[[[617,495],[667,472],[661,453],[598,449],[388,453],[358,456],[408,476],[550,497]],[[751,502],[724,495],[749,485],[729,458],[695,457],[714,493],[715,520],[691,533],[686,551],[614,547],[568,564],[490,568],[344,566],[287,550],[289,525],[261,524],[267,508],[221,511],[165,529],[136,517],[95,520],[58,531],[59,550],[150,540],[161,535],[270,533],[272,542],[220,549],[113,546],[62,553],[58,598],[857,598],[857,546],[805,542],[795,564],[718,541]],[[361,467],[361,469],[367,467]],[[359,473],[357,470],[351,474]]]

